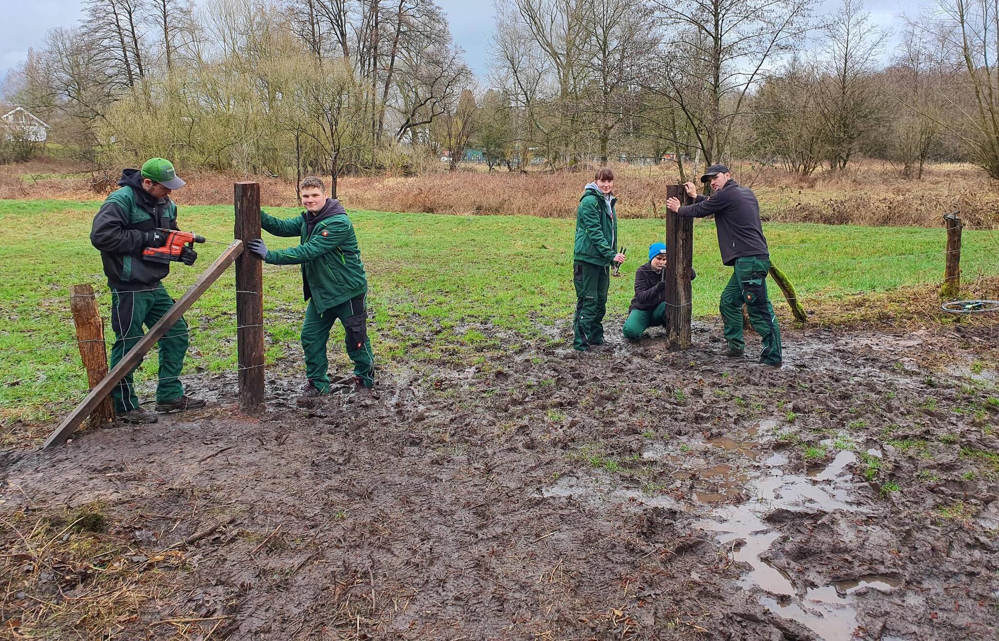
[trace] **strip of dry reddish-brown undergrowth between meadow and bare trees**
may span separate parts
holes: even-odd
[[[611,166],[622,218],[664,215],[665,187],[679,182],[676,165]],[[527,173],[488,172],[483,166],[435,169],[414,177],[345,176],[338,191],[344,204],[355,209],[571,218],[583,187],[592,179],[592,168]],[[846,171],[818,171],[811,176],[751,163],[732,165],[732,173],[756,192],[763,218],[769,221],[937,227],[943,214],[960,211],[966,225],[999,224],[996,185],[971,165],[929,165],[919,181],[900,176],[898,168],[888,163],[871,160],[860,160]],[[252,179],[261,184],[264,206],[296,205],[294,182],[281,178],[205,171],[181,175],[188,184],[175,194],[180,204],[228,205],[233,182]],[[69,161],[0,167],[0,198],[94,200],[116,184],[116,172],[91,172]]]

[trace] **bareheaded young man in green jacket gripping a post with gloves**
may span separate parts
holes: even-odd
[[[306,178],[299,187],[306,208],[301,216],[281,219],[262,211],[261,224],[275,236],[299,236],[301,244],[268,251],[264,241],[258,239],[251,240],[247,247],[266,263],[302,265],[302,289],[309,301],[302,323],[302,350],[309,379],[303,395],[330,393],[326,346],[337,320],[344,326],[347,355],[354,361],[355,389],[370,389],[375,384],[375,364],[365,306],[368,277],[354,225],[340,201],[326,197],[322,180]]]

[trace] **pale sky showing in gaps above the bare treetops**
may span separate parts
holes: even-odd
[[[45,32],[53,27],[69,27],[80,19],[79,0],[0,0],[0,79],[6,71],[24,60],[29,47],[38,47]],[[492,0],[438,0],[451,19],[455,41],[465,49],[465,59],[481,80],[486,79],[489,60],[486,47],[493,32]],[[837,0],[822,0],[819,11],[834,7]],[[917,1],[867,0],[867,11],[885,28],[897,22],[903,11],[915,12]]]

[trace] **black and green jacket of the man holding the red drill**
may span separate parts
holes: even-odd
[[[118,290],[152,289],[170,273],[170,263],[143,260],[145,232],[177,229],[177,206],[170,197],[157,200],[142,188],[138,169],[125,169],[121,189],[104,201],[90,230],[90,242],[101,250],[108,286]]]

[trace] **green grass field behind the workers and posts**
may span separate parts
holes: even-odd
[[[67,296],[69,285],[92,283],[103,310],[110,302],[100,256],[88,236],[98,206],[0,200],[0,418],[46,418],[57,406],[85,393]],[[269,212],[297,214],[293,209]],[[570,276],[573,220],[369,211],[352,212],[351,217],[371,283],[375,320],[370,331],[383,364],[441,357],[483,362],[491,350],[500,349],[498,333],[506,338],[550,337],[555,323],[564,328],[570,322],[575,306]],[[233,210],[182,207],[180,224],[228,242]],[[939,282],[943,271],[942,229],[770,224],[765,232],[774,264],[791,278],[806,307],[819,298]],[[629,260],[622,277],[611,281],[608,322],[622,319],[634,270],[644,262],[648,244],[662,236],[661,220],[620,223],[620,241],[628,248]],[[731,272],[720,264],[711,222],[695,223],[694,236],[698,277],[693,313],[710,316],[717,313],[718,292]],[[265,234],[271,247],[292,240]],[[170,292],[179,296],[222,249],[202,245],[195,267],[173,264],[165,282]],[[962,268],[966,277],[999,273],[999,236],[966,230]],[[275,362],[300,353],[298,331],[305,304],[297,267],[266,265],[264,278],[268,359]],[[197,376],[236,367],[233,290],[233,277],[222,277],[186,315],[192,328],[186,373]],[[112,338],[110,324],[106,332]],[[338,327],[331,354],[334,366],[344,369],[342,340]],[[147,379],[147,390],[151,377],[155,358],[147,358],[138,375],[140,381]]]

